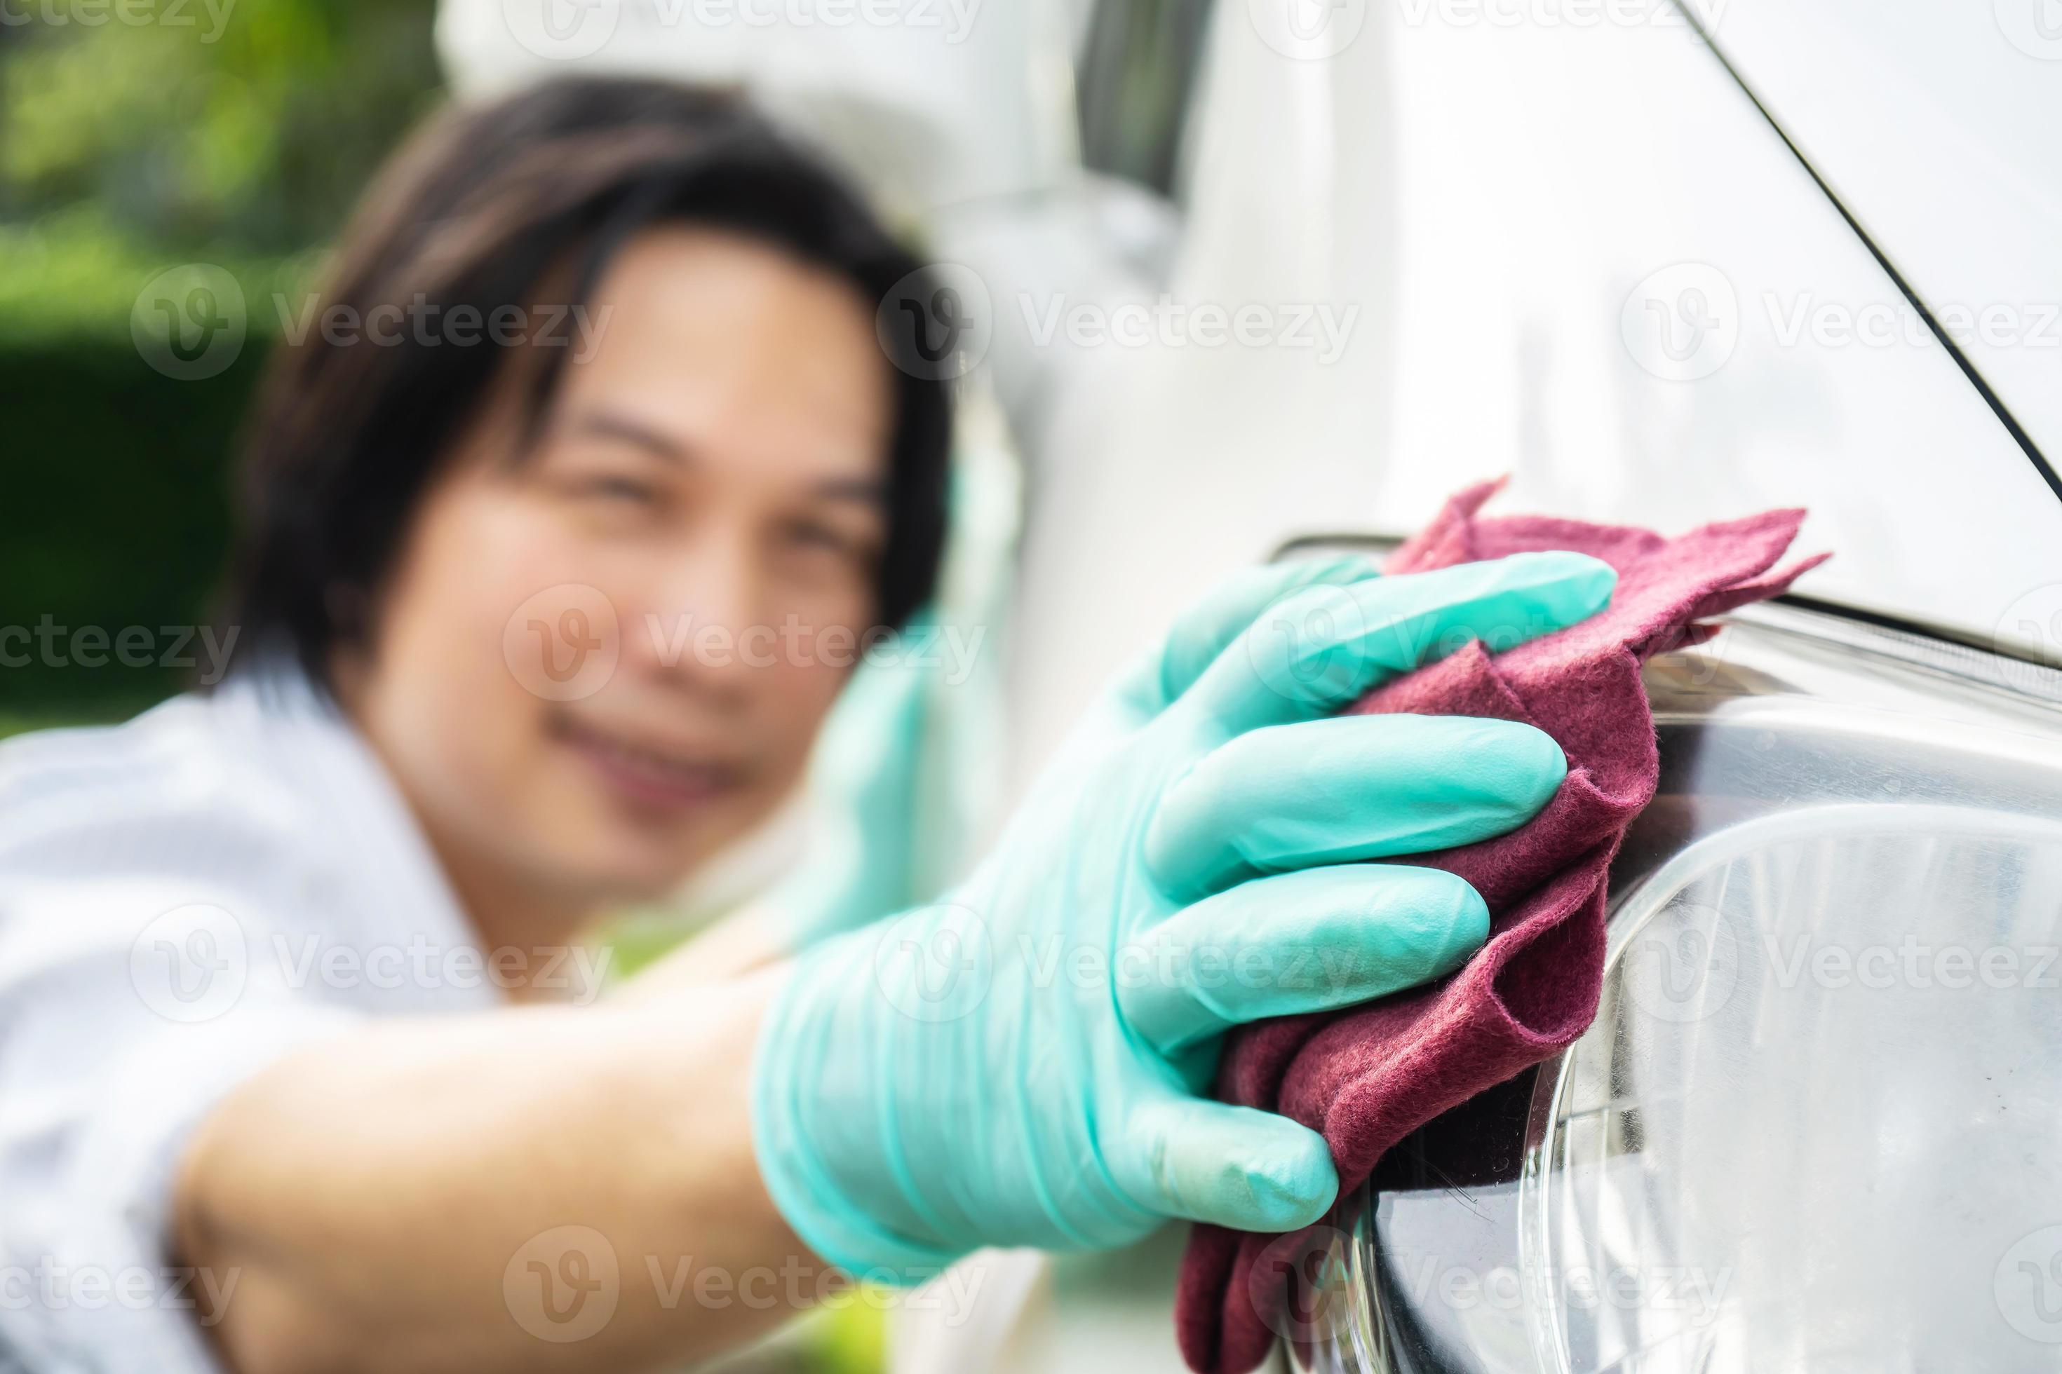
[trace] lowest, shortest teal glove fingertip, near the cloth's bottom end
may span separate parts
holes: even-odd
[[[1287,1117],[1202,1098],[1155,1096],[1122,1119],[1109,1166],[1140,1205],[1241,1232],[1291,1232],[1338,1197],[1324,1137]]]

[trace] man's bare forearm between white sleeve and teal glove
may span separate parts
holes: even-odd
[[[227,1364],[645,1368],[781,1323],[827,1277],[753,1160],[779,978],[394,1020],[260,1073],[177,1182],[177,1246],[227,1290],[206,1314]]]

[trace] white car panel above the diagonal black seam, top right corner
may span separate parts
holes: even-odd
[[[1724,0],[1711,37],[2062,457],[2062,6]]]

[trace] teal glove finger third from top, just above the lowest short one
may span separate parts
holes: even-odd
[[[1441,869],[1349,863],[1256,878],[1142,933],[1120,964],[1124,1020],[1163,1057],[1270,1016],[1332,1011],[1460,968],[1489,906]]]

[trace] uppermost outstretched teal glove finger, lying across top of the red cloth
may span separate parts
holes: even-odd
[[[1210,661],[1179,715],[1223,733],[1330,715],[1470,639],[1503,651],[1563,630],[1602,610],[1617,583],[1608,562],[1544,552],[1303,587]]]

